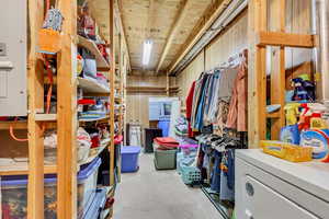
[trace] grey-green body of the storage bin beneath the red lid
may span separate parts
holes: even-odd
[[[157,170],[175,169],[177,150],[155,150],[155,165]]]

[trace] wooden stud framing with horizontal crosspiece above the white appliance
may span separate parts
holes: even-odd
[[[271,7],[269,7],[271,4]],[[285,125],[285,48],[313,48],[315,37],[309,34],[286,32],[286,2],[284,0],[250,0],[249,54],[248,54],[248,139],[249,147],[258,148],[266,138],[266,119],[271,119],[271,138],[279,139]],[[306,20],[305,22],[310,22]],[[280,104],[279,112],[266,113],[266,49],[271,53],[270,92],[271,104]]]

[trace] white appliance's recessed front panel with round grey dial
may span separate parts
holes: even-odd
[[[242,218],[248,219],[277,219],[298,218],[318,219],[296,204],[286,199],[269,186],[260,183],[256,178],[246,175],[243,177],[246,189],[243,199],[246,209]],[[238,217],[239,219],[242,219]]]

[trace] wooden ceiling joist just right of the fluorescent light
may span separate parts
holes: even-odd
[[[169,49],[171,48],[171,46],[173,44],[174,36],[175,36],[179,27],[182,25],[182,22],[185,21],[184,18],[185,18],[186,12],[188,12],[188,5],[189,5],[189,0],[183,0],[181,2],[180,9],[178,10],[178,12],[175,14],[175,18],[172,22],[172,25],[171,25],[171,28],[169,31],[168,37],[166,39],[166,44],[164,44],[163,50],[161,53],[160,60],[158,62],[156,73],[158,73],[159,70],[161,69],[161,67],[163,65],[163,61],[164,61],[164,59],[166,59],[166,57],[169,53]]]

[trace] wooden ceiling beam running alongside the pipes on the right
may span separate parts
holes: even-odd
[[[198,42],[198,39],[203,36],[203,34],[212,26],[212,24],[216,21],[219,14],[228,7],[228,4],[232,0],[220,0],[215,1],[214,4],[211,4],[205,13],[196,24],[195,28],[193,28],[192,33],[180,48],[180,53],[178,53],[177,57],[173,59],[173,62],[170,64],[168,68],[169,72],[172,72],[174,68],[179,65],[179,62],[184,58],[184,56],[191,50],[191,48]]]

